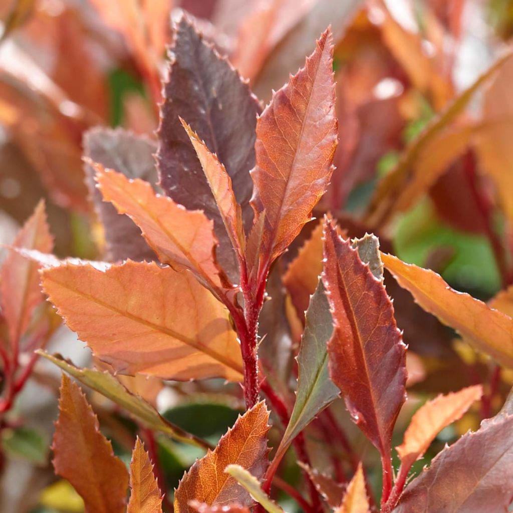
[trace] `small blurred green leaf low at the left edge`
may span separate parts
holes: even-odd
[[[44,465],[48,457],[48,441],[30,427],[2,431],[2,448],[11,457],[21,457],[35,465]]]

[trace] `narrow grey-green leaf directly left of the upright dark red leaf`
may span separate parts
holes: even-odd
[[[290,422],[285,430],[277,454],[286,450],[290,442],[332,401],[340,390],[328,375],[327,344],[333,333],[324,285],[319,281],[306,311],[306,324],[298,355],[298,388]]]

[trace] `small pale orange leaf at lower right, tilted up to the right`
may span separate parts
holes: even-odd
[[[421,458],[438,433],[460,419],[482,394],[481,385],[469,386],[459,392],[440,395],[421,406],[404,433],[402,445],[396,447],[402,464],[409,468]]]

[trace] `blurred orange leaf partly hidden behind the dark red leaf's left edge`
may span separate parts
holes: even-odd
[[[283,283],[290,292],[290,297],[298,315],[304,320],[322,272],[322,223],[312,231],[310,239],[300,248],[298,256],[290,263],[283,275]]]

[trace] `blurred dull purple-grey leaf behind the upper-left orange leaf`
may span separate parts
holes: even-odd
[[[83,144],[86,159],[155,187],[157,171],[153,153],[156,144],[148,137],[121,128],[97,127],[84,134]],[[103,201],[96,188],[94,166],[86,161],[84,169],[94,208],[105,229],[108,260],[155,260],[155,253],[142,238],[141,230],[126,215],[119,215],[112,205]]]

